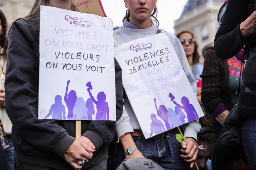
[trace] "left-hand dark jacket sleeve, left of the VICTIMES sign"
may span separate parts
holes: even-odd
[[[5,78],[5,108],[13,129],[33,147],[63,157],[75,140],[56,121],[39,120],[39,38],[36,29],[24,20],[12,24]],[[36,55],[37,51],[37,55]],[[22,147],[14,142],[17,149]]]

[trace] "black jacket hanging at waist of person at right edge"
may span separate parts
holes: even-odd
[[[248,119],[255,119],[256,95],[243,90],[239,100],[225,119],[222,133],[212,149],[212,169],[226,170],[230,162],[245,159],[242,147],[241,125]],[[231,168],[232,169],[232,168]]]

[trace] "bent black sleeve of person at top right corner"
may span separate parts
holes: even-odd
[[[222,24],[214,40],[216,56],[220,59],[235,56],[245,45],[240,33],[240,24],[247,18],[248,4],[249,0],[228,1]]]

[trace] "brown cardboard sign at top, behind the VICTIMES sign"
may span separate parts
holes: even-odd
[[[106,17],[100,0],[71,0],[79,12]]]

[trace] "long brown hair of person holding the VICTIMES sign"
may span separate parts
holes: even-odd
[[[70,3],[72,4],[72,10],[77,10],[77,8],[72,3],[72,1],[70,1]],[[38,23],[38,25],[37,25],[38,29],[39,29],[39,25],[40,25],[40,6],[41,5],[50,6],[50,0],[35,0],[34,5],[31,9],[31,11],[29,12],[29,14],[22,18],[22,19],[35,20]],[[12,26],[12,23],[10,24],[10,26],[7,29],[7,33],[6,33],[7,40],[9,38],[11,26]]]

